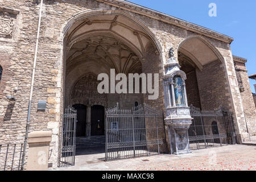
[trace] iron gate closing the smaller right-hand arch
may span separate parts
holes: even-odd
[[[192,105],[190,113],[193,118],[188,130],[191,150],[236,144],[232,114],[221,107],[202,111]]]

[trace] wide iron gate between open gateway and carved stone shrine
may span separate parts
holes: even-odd
[[[163,113],[147,104],[132,110],[106,109],[105,160],[167,152]]]

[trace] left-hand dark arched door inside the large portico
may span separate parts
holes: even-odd
[[[75,104],[73,107],[77,110],[76,137],[86,137],[86,106]]]

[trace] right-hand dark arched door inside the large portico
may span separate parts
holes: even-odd
[[[91,107],[91,136],[104,135],[104,106],[94,105]]]

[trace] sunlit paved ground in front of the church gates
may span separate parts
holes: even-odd
[[[155,155],[111,162],[96,158],[90,156],[88,160],[86,155],[77,156],[76,166],[57,170],[256,170],[256,147],[239,144],[195,150],[185,155]]]

